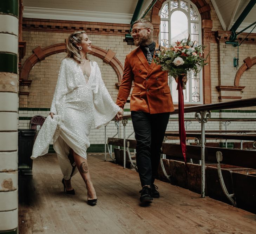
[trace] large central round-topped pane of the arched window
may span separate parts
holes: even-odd
[[[188,17],[182,11],[171,14],[171,43],[188,38]]]

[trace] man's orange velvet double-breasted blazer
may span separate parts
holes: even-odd
[[[150,114],[174,111],[168,86],[168,73],[153,61],[149,65],[140,47],[128,54],[125,59],[123,79],[116,102],[121,108],[124,108],[130,94],[132,81],[134,88],[131,94],[131,111]]]

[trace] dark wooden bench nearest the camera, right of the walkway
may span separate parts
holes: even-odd
[[[240,135],[241,136],[241,135]],[[223,192],[218,175],[216,153],[221,152],[221,174],[229,194],[234,194],[236,206],[256,213],[256,151],[205,147],[205,195],[231,204]],[[183,159],[179,144],[163,143],[163,153]],[[201,160],[201,146],[186,146],[186,157]],[[211,164],[214,163],[214,164]],[[201,193],[201,165],[163,159],[171,184]],[[246,173],[249,172],[249,173]],[[253,174],[253,175],[250,175]]]

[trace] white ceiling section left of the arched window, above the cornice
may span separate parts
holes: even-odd
[[[138,0],[23,0],[25,18],[130,24]],[[142,15],[152,0],[145,0]]]

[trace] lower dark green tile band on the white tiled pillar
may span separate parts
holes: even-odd
[[[17,55],[0,53],[0,72],[11,72],[17,74]]]

